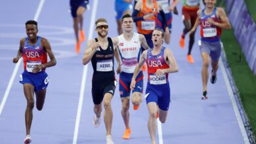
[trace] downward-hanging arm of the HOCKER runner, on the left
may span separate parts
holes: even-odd
[[[144,65],[144,63],[146,62],[146,54],[147,54],[148,50],[144,50],[144,52],[142,52],[142,55],[140,57],[140,61],[137,64],[137,66],[135,67],[134,73],[133,73],[133,78],[131,79],[131,85],[130,88],[131,90],[134,90],[135,88],[135,84],[136,84],[136,77],[139,74],[139,72],[141,71],[141,67],[142,65]]]

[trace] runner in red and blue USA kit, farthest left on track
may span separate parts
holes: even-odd
[[[25,144],[32,142],[30,129],[33,119],[34,103],[38,111],[43,109],[43,104],[45,103],[46,89],[49,83],[49,77],[45,73],[45,69],[56,65],[50,43],[44,37],[37,36],[37,32],[37,22],[28,20],[26,22],[26,33],[28,37],[20,40],[20,48],[18,49],[17,56],[12,60],[13,63],[17,63],[20,58],[23,58],[24,63],[24,72],[20,75],[20,83],[23,84],[24,95],[27,99]],[[47,62],[47,55],[50,58],[49,62]]]

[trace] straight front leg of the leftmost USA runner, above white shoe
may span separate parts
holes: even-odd
[[[26,134],[30,135],[30,128],[33,120],[33,107],[34,107],[34,86],[32,84],[23,84],[24,94],[27,99],[27,107],[25,112]]]

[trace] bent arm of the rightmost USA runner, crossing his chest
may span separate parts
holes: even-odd
[[[212,18],[208,18],[207,22],[209,22],[209,24],[213,24],[214,26],[221,27],[223,29],[231,29],[228,18],[226,17],[226,12],[220,7],[217,8],[217,16],[219,16],[221,23],[213,21]]]

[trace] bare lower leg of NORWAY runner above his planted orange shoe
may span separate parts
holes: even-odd
[[[121,110],[121,115],[123,117],[123,122],[125,122],[125,128],[129,129],[129,117],[130,117],[130,113],[129,113],[129,107],[130,107],[130,97],[124,97],[121,98],[121,102],[122,102],[122,110]]]

